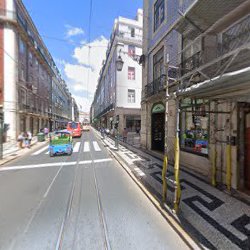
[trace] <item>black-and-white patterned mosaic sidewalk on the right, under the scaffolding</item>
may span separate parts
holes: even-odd
[[[103,141],[160,202],[162,161],[121,142],[116,151],[114,140],[109,137]],[[169,167],[167,177],[173,180],[173,166]],[[249,204],[212,187],[183,167],[180,181],[180,213],[172,215],[186,232],[207,249],[250,249]],[[170,201],[173,191],[173,185],[168,183]]]

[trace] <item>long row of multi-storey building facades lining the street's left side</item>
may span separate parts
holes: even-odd
[[[22,1],[1,0],[0,7],[0,101],[6,139],[16,140],[20,132],[52,129],[53,82],[62,80]],[[70,110],[63,117],[70,119]]]

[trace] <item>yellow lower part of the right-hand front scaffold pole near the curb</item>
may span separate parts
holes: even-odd
[[[174,197],[174,210],[177,213],[179,210],[179,204],[181,199],[181,185],[180,185],[180,148],[179,148],[179,137],[175,138],[175,197]]]

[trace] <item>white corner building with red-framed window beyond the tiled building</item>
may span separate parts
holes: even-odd
[[[115,20],[91,107],[92,121],[98,127],[112,129],[118,121],[119,133],[124,128],[140,129],[142,73],[136,60],[142,53],[142,22],[142,10],[135,20]],[[116,68],[119,55],[124,62],[120,72]]]

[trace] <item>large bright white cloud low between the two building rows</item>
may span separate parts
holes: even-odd
[[[86,107],[87,111],[90,109],[92,98],[96,90],[107,45],[108,40],[101,36],[89,44],[80,45],[75,48],[72,57],[76,60],[76,63],[72,64],[63,61],[64,74],[68,78],[67,83],[69,89],[73,95],[77,96],[77,102],[84,102],[84,105],[81,105]]]

